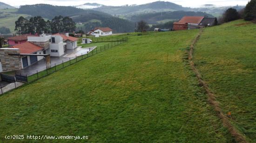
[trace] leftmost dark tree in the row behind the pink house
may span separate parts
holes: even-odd
[[[20,16],[17,21],[15,21],[15,31],[18,34],[26,34],[28,33],[29,28],[29,20],[25,19],[24,17]]]

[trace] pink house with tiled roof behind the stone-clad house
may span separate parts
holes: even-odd
[[[22,44],[22,43],[26,43],[27,42],[27,37],[35,37],[35,35],[31,35],[31,34],[24,34],[24,35],[18,35],[18,36],[14,36],[14,37],[8,37],[8,45],[9,46],[14,46],[17,44]]]

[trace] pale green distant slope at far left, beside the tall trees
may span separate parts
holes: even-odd
[[[0,27],[4,26],[10,29],[10,31],[13,33],[15,29],[15,21],[18,20],[20,16],[23,16],[26,18],[27,14],[15,14],[12,12],[16,12],[17,9],[2,9],[0,12],[4,12],[1,15],[8,15],[7,18],[0,19]]]

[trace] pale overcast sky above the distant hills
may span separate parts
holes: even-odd
[[[33,4],[51,4],[57,6],[77,6],[84,3],[99,3],[107,6],[122,6],[132,4],[145,4],[157,0],[0,0],[11,6],[33,5]],[[200,7],[204,4],[213,4],[216,6],[245,6],[249,0],[164,0],[182,5],[184,7]]]

